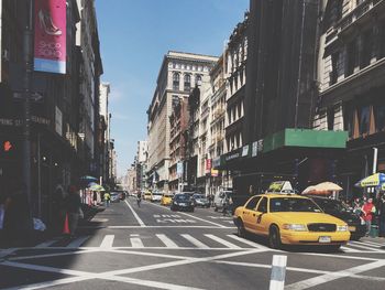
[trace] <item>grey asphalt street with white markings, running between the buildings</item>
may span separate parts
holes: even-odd
[[[285,289],[385,289],[385,240],[338,253],[272,250],[239,238],[230,216],[133,197],[111,204],[75,239],[0,251],[1,289],[268,289],[274,255],[286,256]],[[279,272],[278,272],[279,273]],[[279,276],[279,275],[278,275]]]

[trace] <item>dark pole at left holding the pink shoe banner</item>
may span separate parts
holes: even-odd
[[[31,88],[33,74],[33,0],[26,0],[26,23],[23,33],[23,190],[31,207]],[[30,208],[31,215],[31,208]]]

